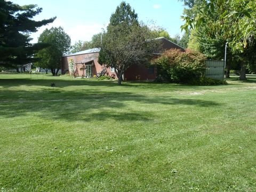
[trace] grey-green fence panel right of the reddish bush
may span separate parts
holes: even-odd
[[[205,76],[223,81],[225,61],[206,60],[205,63],[206,63]]]

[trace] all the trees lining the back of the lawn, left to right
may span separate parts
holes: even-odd
[[[255,71],[255,3],[242,0],[182,1],[187,6],[182,17],[186,21],[182,29],[187,33],[182,38],[171,38],[163,29],[150,30],[138,21],[131,6],[122,2],[111,15],[107,30],[94,35],[91,42],[77,42],[72,51],[101,47],[99,62],[115,68],[118,84],[133,63],[147,63],[153,57],[159,45],[152,39],[160,36],[183,47],[187,46],[189,39],[188,45],[210,59],[222,59],[225,43],[229,42],[229,61],[235,61],[241,67],[240,78],[246,79],[246,68]],[[19,6],[4,0],[0,0],[0,5],[0,65],[37,61],[38,66],[50,68],[53,75],[57,74],[61,55],[70,50],[70,37],[63,28],[46,29],[39,36],[38,43],[29,43],[30,33],[55,18],[32,20],[42,11],[36,5]],[[230,67],[228,65],[228,69]]]

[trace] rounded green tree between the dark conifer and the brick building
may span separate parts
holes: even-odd
[[[62,27],[45,29],[38,37],[38,42],[47,43],[49,47],[40,50],[37,57],[40,58],[37,66],[48,68],[52,75],[57,75],[61,65],[61,56],[70,50],[70,37]]]

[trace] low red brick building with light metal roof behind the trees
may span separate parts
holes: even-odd
[[[169,41],[165,37],[157,38],[162,43],[163,50],[169,49],[181,49],[184,50],[181,46]],[[67,71],[71,71],[69,69],[69,62],[71,59],[74,61],[74,71],[76,76],[80,77],[93,77],[100,73],[104,68],[107,70],[107,75],[116,77],[114,68],[106,68],[101,66],[98,63],[99,57],[99,48],[94,48],[90,50],[80,51],[77,53],[72,53],[68,55],[64,55],[61,58],[61,73],[65,74]],[[161,53],[156,53],[159,55]],[[154,80],[157,77],[157,69],[156,67],[146,67],[142,64],[134,64],[129,69],[127,69],[124,73],[123,79],[127,81],[134,80]]]

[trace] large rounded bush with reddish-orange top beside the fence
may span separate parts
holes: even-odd
[[[163,81],[197,84],[205,73],[205,56],[202,53],[178,49],[165,51],[153,61]]]

